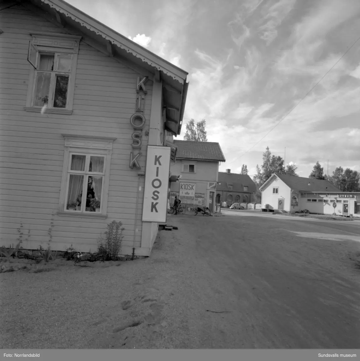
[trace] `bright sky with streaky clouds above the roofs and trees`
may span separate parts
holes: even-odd
[[[221,171],[255,174],[267,146],[302,177],[360,171],[360,40],[297,105],[359,38],[359,0],[67,1],[189,73],[177,139],[205,118]]]

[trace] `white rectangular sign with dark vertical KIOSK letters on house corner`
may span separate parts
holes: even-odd
[[[166,222],[170,147],[148,145],[143,222]]]

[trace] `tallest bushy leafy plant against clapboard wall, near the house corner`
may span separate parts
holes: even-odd
[[[107,225],[107,231],[105,232],[105,238],[100,235],[98,241],[98,253],[104,254],[105,261],[116,260],[119,252],[121,251],[122,235],[124,228],[121,222],[112,221]]]

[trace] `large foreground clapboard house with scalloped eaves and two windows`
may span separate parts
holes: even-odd
[[[94,252],[115,219],[122,254],[149,256],[147,149],[180,134],[187,73],[61,0],[3,1],[0,24],[0,246],[22,223],[24,249]]]

